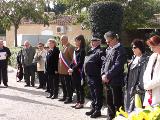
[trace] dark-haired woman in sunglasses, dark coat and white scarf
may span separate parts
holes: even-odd
[[[135,108],[136,93],[140,95],[142,101],[144,99],[143,74],[149,58],[145,53],[145,44],[142,40],[135,39],[131,46],[134,56],[128,66],[124,94],[124,108],[128,113]]]

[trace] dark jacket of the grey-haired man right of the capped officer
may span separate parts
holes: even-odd
[[[109,85],[124,84],[124,64],[127,57],[122,45],[115,49],[107,48],[105,60],[103,61],[101,74],[107,75]]]

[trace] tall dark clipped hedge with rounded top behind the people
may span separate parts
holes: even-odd
[[[109,30],[120,33],[123,20],[123,8],[117,2],[99,2],[89,7],[89,20],[93,35],[104,40]]]

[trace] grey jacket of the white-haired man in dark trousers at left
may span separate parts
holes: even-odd
[[[35,53],[36,51],[32,46],[30,46],[28,49],[23,48],[22,49],[22,55],[23,55],[22,64],[24,66],[32,65]]]

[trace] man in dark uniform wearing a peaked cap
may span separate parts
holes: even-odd
[[[103,86],[101,79],[101,40],[97,37],[91,39],[91,49],[88,51],[84,62],[84,72],[87,77],[87,83],[92,98],[92,109],[86,112],[91,118],[101,116],[101,108],[103,104]]]

